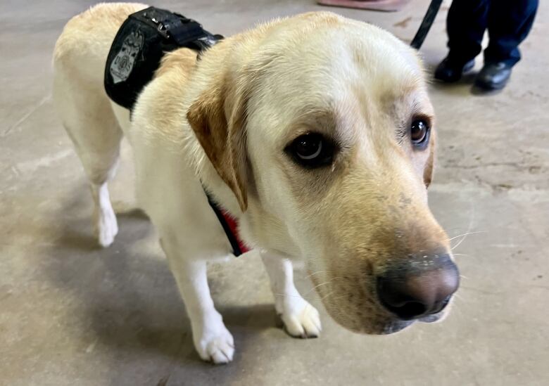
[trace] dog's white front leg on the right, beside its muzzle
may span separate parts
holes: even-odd
[[[294,285],[294,267],[289,259],[263,253],[261,258],[274,295],[274,307],[293,337],[317,337],[322,330],[317,309],[299,294]]]

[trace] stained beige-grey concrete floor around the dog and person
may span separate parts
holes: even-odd
[[[332,11],[410,39],[427,2],[391,14]],[[368,337],[320,307],[322,336],[294,340],[276,326],[260,261],[243,257],[210,274],[237,346],[220,367],[194,352],[155,231],[134,207],[127,147],[112,188],[120,234],[107,250],[92,238],[91,199],[52,108],[50,65],[64,23],[90,4],[0,5],[1,385],[549,385],[547,2],[505,91],[431,86],[440,136],[431,207],[450,236],[479,232],[455,249],[464,278],[448,320]],[[312,0],[156,5],[222,34],[321,8]],[[430,66],[446,53],[447,6],[424,45]],[[303,272],[296,276],[308,291]]]

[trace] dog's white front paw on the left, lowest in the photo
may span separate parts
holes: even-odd
[[[208,320],[209,319],[209,320]],[[219,314],[193,329],[194,347],[204,361],[227,364],[234,355],[234,340]]]

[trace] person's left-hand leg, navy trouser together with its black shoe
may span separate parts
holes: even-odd
[[[457,82],[474,66],[474,57],[482,50],[482,37],[488,24],[490,0],[454,0],[446,18],[448,56],[436,67],[434,77]]]

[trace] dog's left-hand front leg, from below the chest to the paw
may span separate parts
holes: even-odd
[[[226,364],[232,361],[234,340],[213,305],[206,276],[206,261],[182,257],[177,243],[160,240],[191,319],[194,347],[204,361]]]

